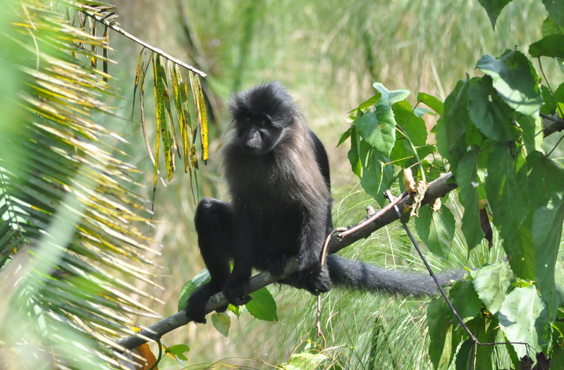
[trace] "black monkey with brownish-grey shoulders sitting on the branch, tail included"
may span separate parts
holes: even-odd
[[[429,276],[386,271],[335,254],[321,266],[321,250],[333,229],[329,159],[317,135],[279,82],[235,92],[229,104],[231,138],[221,149],[231,202],[204,198],[197,206],[198,245],[211,280],[192,292],[185,312],[205,323],[209,297],[223,292],[234,305],[249,302],[255,268],[281,276],[298,255],[298,272],[280,283],[313,295],[332,284],[432,295]],[[230,263],[233,261],[233,271]],[[441,276],[447,283],[451,276]]]

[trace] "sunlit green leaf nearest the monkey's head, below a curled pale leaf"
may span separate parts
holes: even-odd
[[[378,104],[374,112],[364,113],[357,122],[357,130],[374,149],[384,156],[390,155],[396,142],[396,121],[390,106]]]

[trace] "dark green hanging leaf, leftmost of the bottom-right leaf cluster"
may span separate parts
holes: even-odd
[[[446,338],[450,330],[450,308],[442,297],[434,297],[427,307],[427,325],[429,326],[429,358],[434,369],[439,368],[443,351],[445,350]]]

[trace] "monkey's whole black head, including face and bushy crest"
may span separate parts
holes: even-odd
[[[270,152],[283,140],[299,113],[288,92],[276,81],[235,92],[230,111],[237,144],[257,156]]]

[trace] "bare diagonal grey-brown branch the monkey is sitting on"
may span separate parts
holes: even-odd
[[[429,189],[427,190],[427,193],[425,193],[422,205],[429,203],[429,201],[432,199],[444,197],[448,194],[448,192],[455,189],[457,185],[455,183],[448,182],[448,180],[452,178],[452,173],[443,173],[438,179],[429,183]],[[403,209],[405,204],[409,200],[410,197],[403,198],[398,203],[398,209]],[[390,209],[385,214],[377,218],[374,222],[369,223],[367,226],[360,228],[360,230],[357,230],[350,235],[347,235],[345,238],[343,238],[343,240],[338,238],[338,235],[333,236],[333,238],[331,238],[331,242],[329,242],[329,253],[338,252],[344,247],[353,244],[353,242],[356,242],[357,240],[368,238],[370,234],[374,233],[374,231],[383,228],[393,221],[396,221],[398,218],[399,217],[396,211],[394,209]],[[364,220],[360,223],[364,223]],[[355,226],[350,226],[349,228],[353,227]],[[288,264],[286,264],[283,276],[272,276],[269,272],[258,273],[250,279],[249,292],[255,292],[261,288],[264,288],[266,285],[276,283],[278,280],[281,280],[281,278],[290,276],[298,271],[299,267],[300,264],[298,263],[298,258],[295,257],[288,260]],[[220,292],[209,299],[206,304],[205,311],[208,314],[209,312],[214,312],[216,309],[225,307],[226,304],[228,304],[227,299],[225,295]],[[157,340],[164,334],[173,331],[180,326],[184,326],[190,321],[192,320],[186,316],[185,312],[180,311],[176,314],[168,316],[166,319],[162,319],[152,326],[149,326],[149,328],[139,331],[139,333],[137,333],[136,335],[132,335],[127,338],[121,338],[116,342],[118,346],[121,346],[121,348],[118,347],[118,350],[131,350],[142,345],[143,343],[148,342],[149,340]]]

